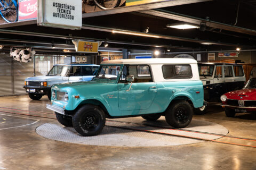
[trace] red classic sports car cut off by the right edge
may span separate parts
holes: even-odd
[[[227,92],[220,97],[228,117],[236,113],[256,111],[256,78],[251,78],[242,90]]]

